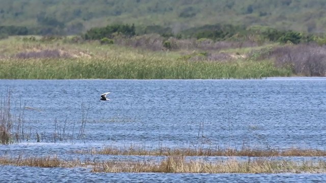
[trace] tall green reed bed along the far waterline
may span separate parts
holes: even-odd
[[[268,61],[208,62],[165,57],[5,58],[1,79],[222,79],[290,76]]]

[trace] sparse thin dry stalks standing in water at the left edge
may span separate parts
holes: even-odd
[[[15,99],[15,98],[14,98]],[[25,110],[36,110],[31,107],[26,107],[21,104],[19,98],[18,106],[16,101],[12,101],[12,91],[8,88],[5,94],[0,96],[0,143],[10,144],[18,143],[22,141],[32,141],[37,142],[63,142],[74,140],[74,130],[75,127],[79,128],[79,132],[75,138],[83,138],[85,136],[85,128],[88,120],[88,112],[90,109],[90,103],[86,105],[82,102],[82,119],[80,124],[73,123],[72,132],[67,129],[71,129],[67,124],[68,116],[64,121],[54,120],[54,128],[50,133],[38,132],[37,128],[33,128],[35,134],[32,133],[31,124],[26,125],[25,121]]]

